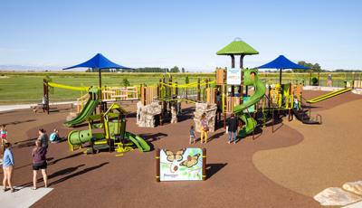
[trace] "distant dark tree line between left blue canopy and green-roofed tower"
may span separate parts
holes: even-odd
[[[98,72],[99,70],[97,69],[88,69],[86,72]],[[181,68],[181,70],[177,67],[174,66],[171,69],[168,68],[160,68],[160,67],[143,67],[143,68],[136,68],[136,69],[102,69],[102,72],[159,72],[159,73],[165,73],[165,72],[173,72],[173,73],[177,73],[177,72],[187,72],[185,70],[185,68]]]

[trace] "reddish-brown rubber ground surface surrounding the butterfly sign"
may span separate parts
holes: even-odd
[[[189,109],[189,113],[192,111]],[[64,115],[60,112],[42,116],[60,120]],[[312,198],[275,184],[252,164],[252,155],[256,151],[299,143],[303,137],[297,131],[279,124],[275,133],[271,133],[271,128],[263,128],[262,134],[254,140],[247,137],[236,145],[228,145],[224,129],[220,128],[210,134],[209,143],[190,146],[188,129],[193,121],[186,118],[177,124],[157,128],[138,128],[136,118],[128,118],[127,130],[146,137],[154,148],[205,147],[208,168],[205,182],[157,183],[155,151],[141,153],[135,149],[124,156],[108,152],[86,156],[80,150],[70,152],[65,141],[49,147],[49,183],[54,189],[33,207],[318,206]],[[42,127],[48,132],[57,127],[61,136],[66,136],[71,128],[64,128],[62,122]],[[28,129],[28,137],[36,137],[37,128]],[[33,140],[20,142],[14,147],[16,185],[31,185],[32,145]]]

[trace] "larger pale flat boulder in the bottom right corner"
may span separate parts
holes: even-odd
[[[356,203],[362,200],[362,197],[338,187],[330,187],[315,195],[314,199],[321,205],[344,206],[349,203]]]

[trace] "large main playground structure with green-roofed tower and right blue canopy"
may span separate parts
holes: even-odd
[[[246,137],[249,134],[254,135],[258,122],[262,123],[262,127],[265,127],[266,122],[271,119],[272,127],[274,127],[275,116],[287,115],[289,121],[295,116],[305,124],[321,124],[320,115],[312,118],[311,108],[303,109],[303,107],[350,90],[338,90],[315,99],[304,99],[301,84],[281,83],[281,70],[308,68],[293,63],[283,55],[261,66],[261,68],[280,69],[280,83],[266,85],[262,80],[259,80],[256,69],[243,69],[244,56],[258,53],[247,43],[235,40],[217,52],[219,55],[231,56],[231,69],[216,68],[215,80],[198,79],[193,83],[186,84],[178,84],[171,75],[167,77],[166,74],[157,85],[141,84],[139,87],[127,88],[101,87],[101,84],[99,88],[71,87],[44,80],[44,97],[48,100],[47,111],[49,113],[49,87],[88,91],[86,95],[81,95],[81,98],[77,100],[78,115],[64,123],[67,127],[77,126],[92,118],[99,119],[105,125],[109,121],[104,120],[102,112],[108,109],[109,102],[139,100],[137,104],[138,126],[154,128],[165,122],[176,123],[177,116],[182,113],[181,103],[190,102],[196,103],[194,113],[196,131],[198,130],[199,119],[204,113],[206,113],[211,131],[214,130],[217,121],[222,119],[221,115],[223,115],[225,128],[227,116],[234,113],[244,123],[239,136]],[[235,69],[235,55],[240,55],[240,70]],[[236,76],[229,78],[229,72],[230,74],[235,73]],[[229,82],[229,79],[233,81]],[[353,81],[353,85],[358,84],[360,84],[358,81]],[[249,90],[253,91],[252,95],[249,95]],[[97,114],[97,106],[100,109],[98,117],[96,117],[97,115],[91,116]],[[110,139],[107,134],[105,136]]]

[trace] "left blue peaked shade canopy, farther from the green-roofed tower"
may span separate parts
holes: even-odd
[[[86,68],[92,68],[92,69],[130,69],[125,66],[121,66],[115,62],[110,61],[106,57],[104,57],[101,53],[97,53],[93,58],[91,58],[88,61],[82,62],[78,65],[71,66],[68,68],[65,68],[63,70],[69,70],[73,68],[79,68],[79,67],[86,67]]]

